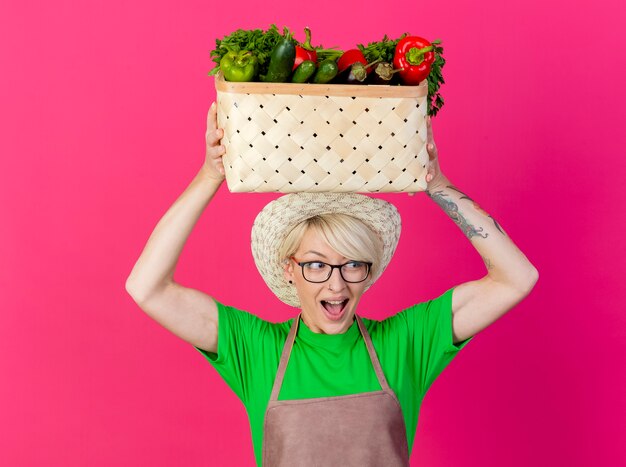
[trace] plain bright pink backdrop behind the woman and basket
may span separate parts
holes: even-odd
[[[215,39],[275,22],[342,48],[405,31],[443,39],[444,173],[540,272],[431,388],[412,465],[623,465],[623,3],[221,5],[0,5],[0,464],[253,462],[243,406],[124,283],[203,161]],[[269,320],[293,316],[250,254],[273,198],[222,187],[177,281]],[[403,235],[360,313],[382,318],[482,277],[425,195],[384,198]]]

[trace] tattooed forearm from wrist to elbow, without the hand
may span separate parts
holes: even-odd
[[[426,193],[470,240],[492,280],[519,290],[534,285],[538,275],[535,267],[502,226],[474,200],[447,179]]]

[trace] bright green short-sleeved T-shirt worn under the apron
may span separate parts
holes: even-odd
[[[470,340],[452,337],[452,291],[382,321],[363,318],[406,424],[409,454],[420,405],[435,378]],[[241,399],[261,465],[263,421],[280,355],[293,319],[270,323],[217,303],[217,354],[195,347]],[[318,334],[300,320],[279,400],[342,396],[380,390],[356,321],[343,334]]]

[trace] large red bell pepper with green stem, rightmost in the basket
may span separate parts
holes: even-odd
[[[418,36],[407,36],[398,41],[393,56],[394,68],[401,68],[400,79],[404,84],[417,85],[430,74],[435,61],[433,45]]]

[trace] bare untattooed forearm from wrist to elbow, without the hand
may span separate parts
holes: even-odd
[[[220,183],[208,177],[203,166],[161,218],[126,281],[131,295],[145,297],[173,281],[187,238]]]

